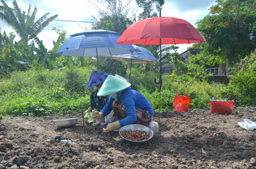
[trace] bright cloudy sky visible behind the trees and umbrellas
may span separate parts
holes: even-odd
[[[21,8],[21,11],[26,11],[29,4],[32,5],[32,11],[34,6],[37,7],[38,13],[37,18],[42,15],[50,12],[51,15],[58,14],[58,19],[61,20],[82,20],[89,21],[90,13],[93,15],[97,14],[97,10],[88,3],[86,0],[16,0],[18,6]],[[203,18],[209,11],[209,7],[214,4],[215,0],[165,0],[163,5],[162,16],[163,17],[175,17],[189,21],[191,24],[195,24],[197,20]],[[11,0],[7,1],[7,4],[12,7]],[[175,8],[175,9],[170,9]],[[184,10],[180,10],[184,9]],[[190,11],[185,11],[190,10]],[[200,12],[195,12],[200,11]],[[139,15],[137,12],[137,15]],[[203,13],[207,12],[207,13]],[[63,22],[63,21],[54,21],[51,23],[43,32],[38,35],[38,38],[43,41],[43,44],[48,50],[53,48],[53,41],[56,41],[58,35],[52,30],[52,27],[57,29],[67,30],[67,35],[72,35],[74,33],[82,32],[83,30],[75,22]],[[90,23],[85,24],[87,27],[90,27]],[[5,30],[7,34],[14,32],[10,27],[6,27],[5,24],[0,22],[2,32]],[[16,33],[15,33],[16,34]],[[17,35],[17,34],[16,34]],[[19,41],[18,35],[16,36],[16,41]],[[68,36],[69,37],[69,36]],[[190,44],[191,45],[191,44]],[[178,52],[182,53],[189,47],[188,44],[177,45],[179,48]]]

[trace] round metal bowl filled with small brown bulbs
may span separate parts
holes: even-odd
[[[120,128],[119,134],[120,134],[120,136],[121,136],[123,139],[125,139],[125,138],[121,135],[121,131],[123,131],[123,130],[135,130],[135,129],[136,129],[136,130],[146,131],[146,133],[149,133],[148,140],[150,140],[150,139],[153,137],[153,135],[154,135],[153,131],[152,131],[150,128],[148,128],[148,127],[146,127],[146,126],[144,126],[144,125],[139,125],[139,124],[129,124],[129,125],[125,125],[125,126],[123,126],[122,128]],[[130,143],[145,143],[145,142],[148,141],[148,140],[132,141],[132,140],[129,140],[129,139],[125,139],[125,140],[128,141],[128,142],[130,142]]]

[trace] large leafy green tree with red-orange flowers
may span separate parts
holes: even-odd
[[[256,1],[216,0],[210,12],[197,21],[198,31],[207,40],[212,54],[222,51],[226,71],[230,63],[239,62],[256,48]]]

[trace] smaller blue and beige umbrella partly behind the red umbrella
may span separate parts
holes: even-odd
[[[136,49],[134,53],[130,54],[119,54],[115,56],[104,56],[108,57],[110,59],[115,59],[123,62],[131,62],[131,63],[153,63],[153,64],[160,64],[158,60],[155,58],[155,56],[146,48],[138,47],[136,45],[133,45],[133,47]],[[131,76],[131,67],[130,67],[130,75]]]

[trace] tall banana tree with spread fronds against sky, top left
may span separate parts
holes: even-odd
[[[26,47],[28,42],[31,39],[34,39],[35,36],[39,35],[49,25],[49,23],[58,17],[58,15],[54,15],[48,18],[50,15],[48,12],[35,21],[37,7],[34,7],[34,11],[31,12],[31,5],[29,5],[29,9],[26,13],[25,11],[21,12],[16,0],[12,1],[13,9],[6,4],[5,0],[1,0],[1,3],[5,9],[4,14],[6,15],[6,18],[9,20],[18,36],[20,36],[20,41],[23,42],[22,56],[26,56]]]

